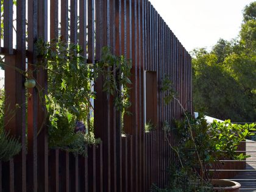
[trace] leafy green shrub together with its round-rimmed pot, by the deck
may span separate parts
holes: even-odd
[[[230,120],[214,120],[208,124],[204,115],[194,118],[189,113],[185,113],[181,121],[174,121],[173,128],[167,122],[163,124],[166,140],[175,135],[177,145],[169,144],[179,160],[179,170],[185,172],[187,178],[196,178],[194,185],[208,188],[211,184],[212,191],[239,191],[239,183],[215,179],[216,168],[222,165],[221,160],[247,157],[238,154],[237,148],[240,141],[252,135],[250,132],[255,127],[255,124],[232,124]]]

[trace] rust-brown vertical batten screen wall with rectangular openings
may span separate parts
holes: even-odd
[[[132,115],[124,116],[121,130],[121,114],[113,98],[102,91],[102,77],[98,77],[94,85],[97,92],[94,132],[102,143],[88,147],[87,157],[60,149],[48,150],[47,126],[42,124],[46,110],[38,90],[30,89],[27,148],[26,108],[21,107],[5,129],[20,137],[23,148],[10,162],[0,162],[0,192],[138,192],[149,191],[152,183],[164,187],[168,183],[166,168],[174,163],[174,154],[165,141],[162,123],[180,118],[182,109],[175,101],[165,105],[162,80],[164,76],[170,77],[180,101],[193,112],[191,57],[152,4],[148,0],[17,0],[18,28],[13,34],[13,1],[3,2],[4,34],[1,35],[4,36],[1,36],[0,54],[5,55],[5,63],[24,71],[27,59],[28,68],[34,70],[38,62],[35,43],[38,38],[48,39],[48,23],[49,38],[60,35],[63,41],[79,44],[87,63],[95,64],[101,59],[102,47],[111,46],[113,54],[125,55],[132,62],[132,107],[129,108]],[[46,9],[48,3],[50,13]],[[33,75],[47,91],[47,71]],[[25,77],[10,68],[5,69],[5,77],[10,106],[15,108],[15,104],[23,104],[26,99]],[[149,120],[157,129],[144,132],[144,124]]]

